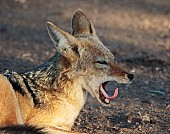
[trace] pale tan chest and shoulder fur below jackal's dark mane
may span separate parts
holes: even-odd
[[[77,83],[79,83],[77,80],[69,85],[65,83],[65,86],[69,87],[71,92],[58,94],[59,98],[57,98],[57,95],[53,97],[51,93],[47,93],[50,101],[48,105],[43,109],[33,109],[26,122],[39,126],[49,126],[49,124],[56,126],[57,124],[57,128],[71,130],[74,120],[85,103],[84,93],[77,86]],[[68,90],[68,88],[64,90]]]

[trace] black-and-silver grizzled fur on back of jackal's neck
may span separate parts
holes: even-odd
[[[57,53],[47,63],[34,70],[21,74],[27,88],[32,92],[35,105],[43,105],[47,92],[61,90],[60,83],[66,80],[64,75],[68,68],[67,60]]]

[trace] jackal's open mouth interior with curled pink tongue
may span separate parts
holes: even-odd
[[[110,104],[110,100],[113,100],[117,97],[118,95],[118,88],[115,89],[114,94],[112,96],[109,96],[108,93],[106,92],[106,85],[107,82],[104,82],[100,85],[99,87],[99,93],[100,93],[100,100],[105,103],[105,104]]]

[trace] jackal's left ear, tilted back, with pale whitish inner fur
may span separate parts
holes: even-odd
[[[68,58],[75,56],[76,38],[51,22],[47,22],[46,26],[57,51]]]

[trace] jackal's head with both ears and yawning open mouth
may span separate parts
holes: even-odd
[[[93,24],[82,10],[76,10],[73,15],[72,34],[50,22],[47,22],[47,29],[57,51],[70,65],[68,77],[72,80],[80,79],[77,84],[100,103],[107,105],[118,94],[118,89],[113,96],[107,94],[105,88],[109,81],[132,81],[134,75],[126,72],[114,61],[113,54],[99,40]]]

